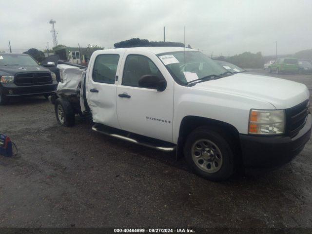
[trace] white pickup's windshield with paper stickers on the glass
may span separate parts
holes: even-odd
[[[212,75],[229,75],[225,68],[197,51],[178,51],[162,53],[157,56],[165,64],[176,82],[182,85],[186,85],[192,80],[206,78]]]

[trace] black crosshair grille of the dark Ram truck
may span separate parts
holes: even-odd
[[[19,73],[15,76],[14,82],[16,85],[40,85],[51,84],[52,77],[50,73],[38,72],[38,73]]]

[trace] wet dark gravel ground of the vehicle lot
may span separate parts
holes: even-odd
[[[312,75],[276,76],[312,91]],[[312,227],[311,139],[282,168],[215,183],[90,121],[61,127],[40,97],[0,106],[0,132],[20,153],[0,156],[0,227]]]

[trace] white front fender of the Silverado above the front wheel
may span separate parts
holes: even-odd
[[[211,81],[203,82],[208,83]],[[247,134],[248,118],[252,106],[256,109],[275,109],[266,101],[242,98],[203,87],[175,85],[174,142],[177,142],[182,119],[186,116],[206,117],[233,125],[239,133]],[[197,86],[197,87],[196,87]],[[194,92],[196,89],[196,92]],[[196,94],[195,94],[196,93]]]

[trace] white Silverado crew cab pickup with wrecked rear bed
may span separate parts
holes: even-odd
[[[61,125],[73,125],[75,114],[89,113],[93,130],[176,150],[195,173],[211,180],[228,178],[240,165],[285,164],[311,136],[304,84],[232,74],[193,49],[101,50],[84,72],[58,67],[62,80],[51,101]]]

